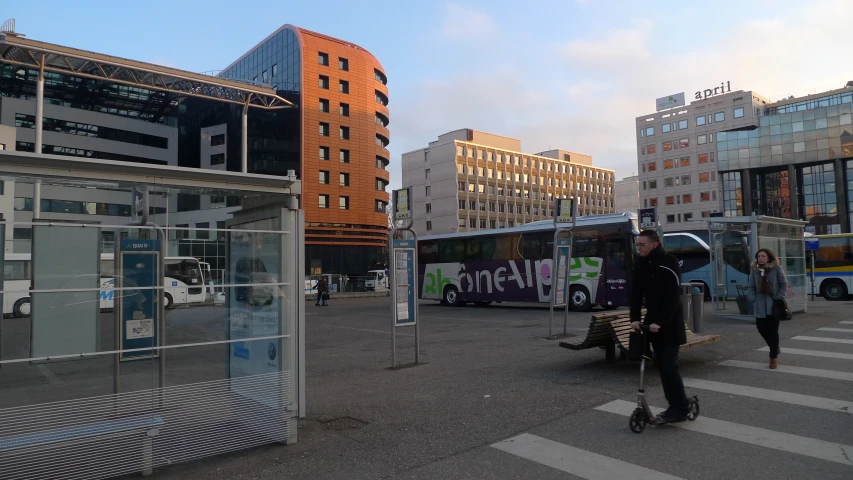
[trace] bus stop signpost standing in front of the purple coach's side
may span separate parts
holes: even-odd
[[[577,202],[573,197],[554,199],[554,246],[551,252],[551,304],[548,338],[554,338],[554,307],[563,307],[563,336],[568,333],[569,286],[572,269],[572,228],[577,219]],[[568,239],[560,234],[569,233]],[[565,272],[565,274],[563,273]]]

